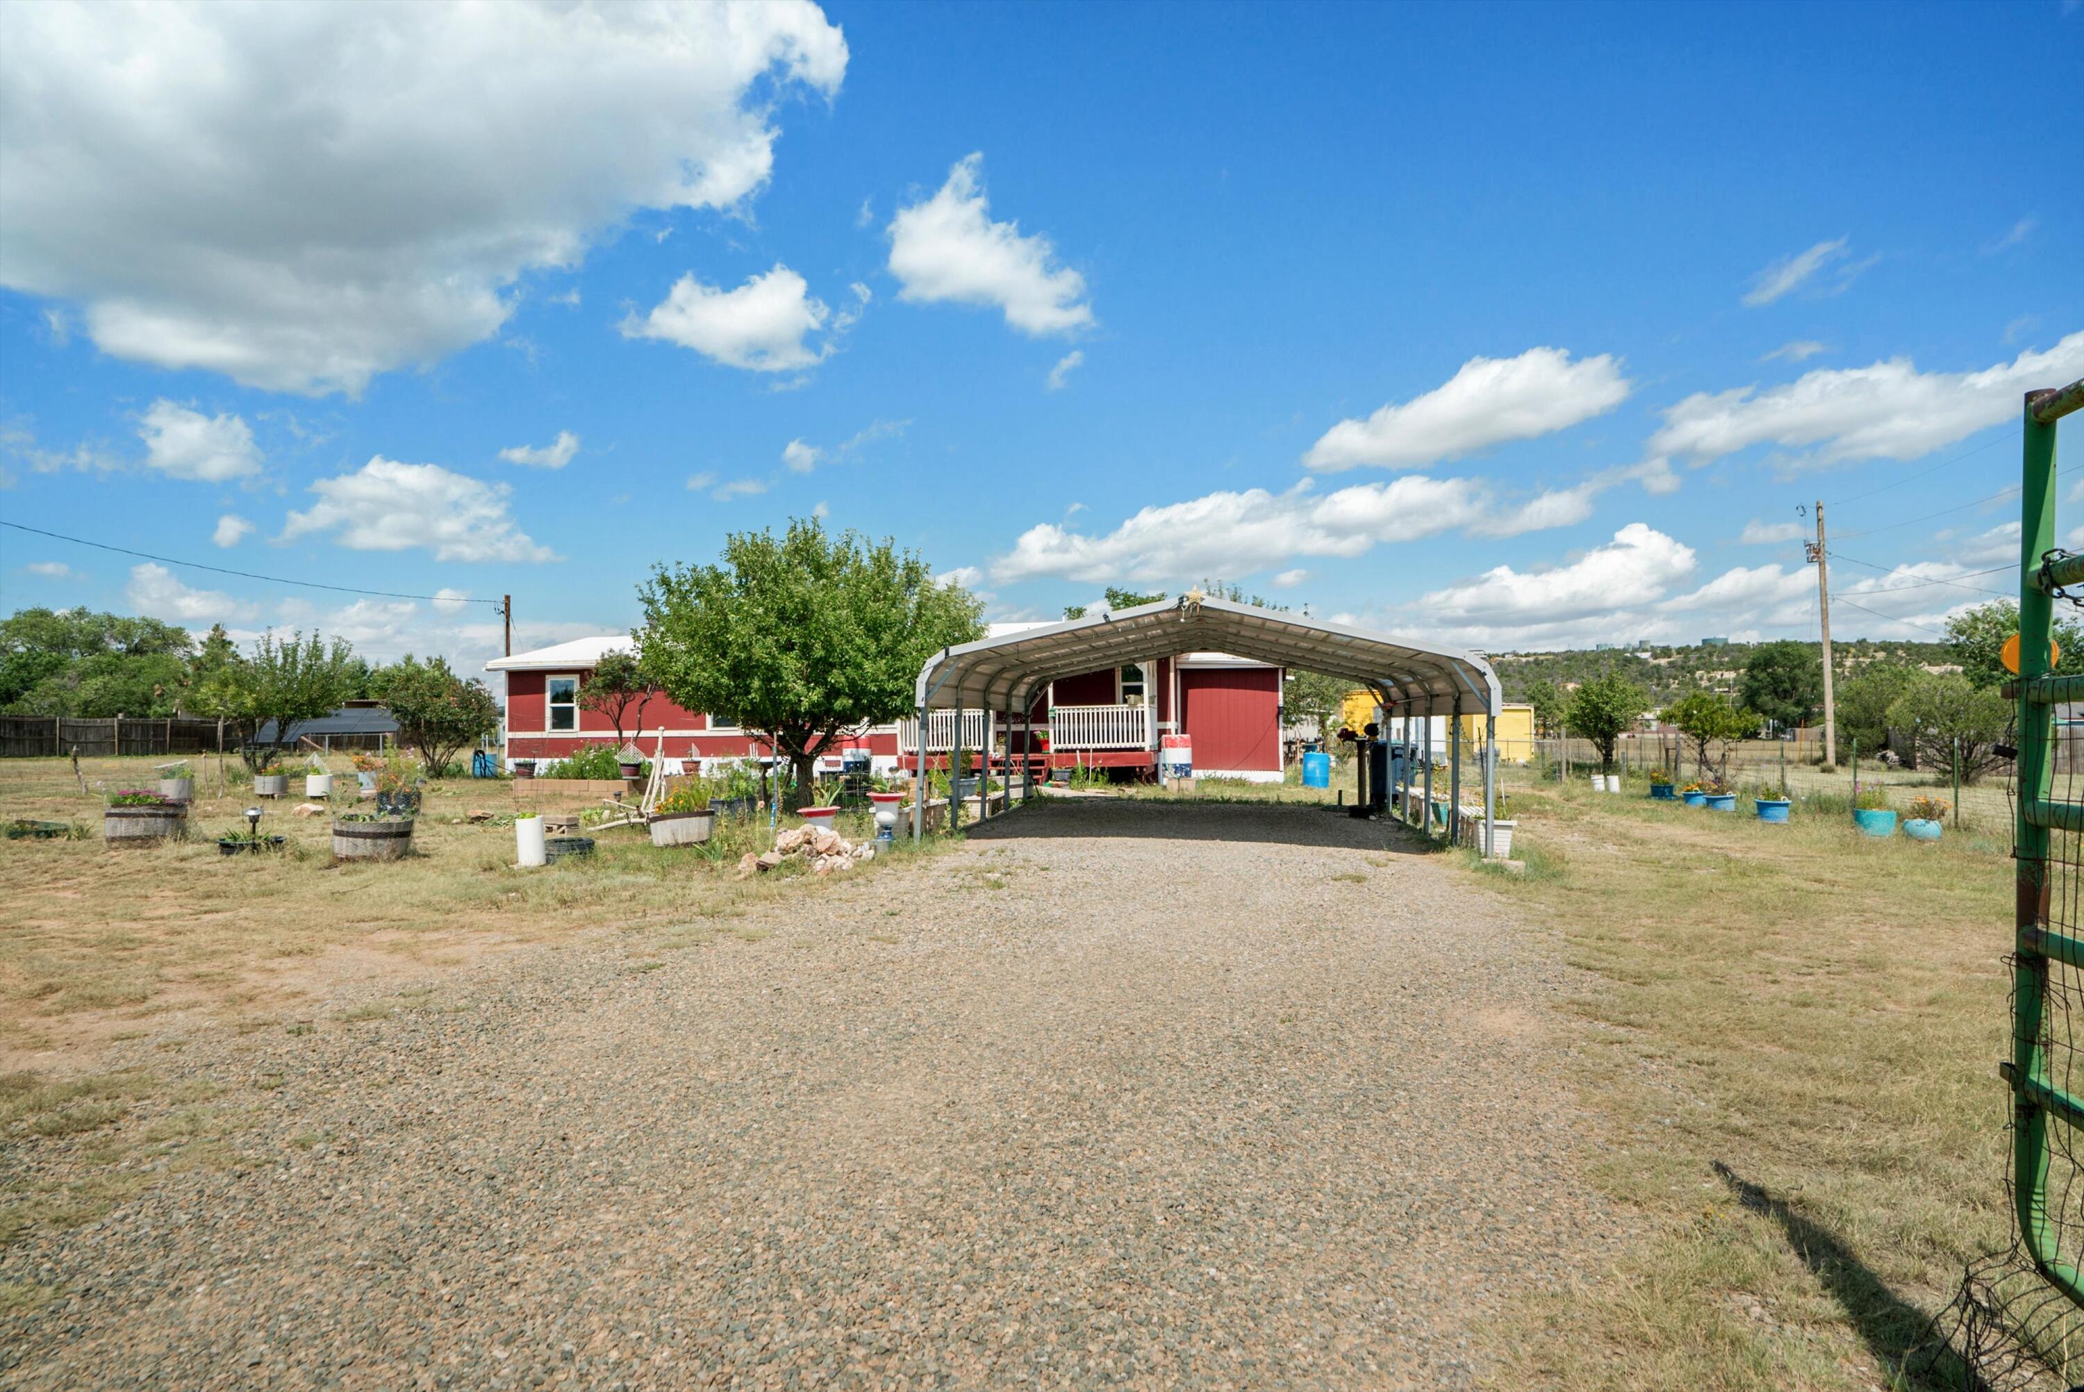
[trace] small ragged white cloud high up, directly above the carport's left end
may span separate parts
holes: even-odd
[[[890,273],[913,304],[996,304],[1021,333],[1071,333],[1092,323],[1086,277],[1057,265],[1042,233],[994,223],[984,196],[984,154],[954,163],[948,181],[890,221]]]

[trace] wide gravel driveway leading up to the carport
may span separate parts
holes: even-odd
[[[1607,1244],[1500,913],[1321,809],[1050,800],[763,942],[213,1031],[254,1159],[8,1248],[67,1294],[0,1382],[1459,1388]]]

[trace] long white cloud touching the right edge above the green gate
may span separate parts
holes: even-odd
[[[2019,415],[2028,388],[2084,375],[2084,331],[1974,373],[1921,373],[1909,358],[1815,369],[1769,388],[1696,392],[1665,408],[1653,456],[1707,465],[1755,444],[1817,448],[1819,463],[1919,458]]]

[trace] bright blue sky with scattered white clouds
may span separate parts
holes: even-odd
[[[994,617],[1803,636],[1817,498],[1836,631],[1928,636],[2084,375],[2063,0],[227,15],[0,13],[0,513],[517,646],[813,508]],[[19,531],[0,590],[496,644]]]

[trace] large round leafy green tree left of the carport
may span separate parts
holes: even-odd
[[[984,604],[936,586],[915,552],[852,531],[827,538],[815,519],[784,538],[731,533],[721,565],[659,565],[638,598],[644,675],[788,759],[790,811],[838,731],[911,711],[925,661],[984,633]]]

